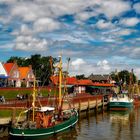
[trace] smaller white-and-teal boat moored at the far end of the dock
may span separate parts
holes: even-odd
[[[127,94],[115,94],[110,98],[110,110],[128,110],[133,107],[133,99],[129,98]]]

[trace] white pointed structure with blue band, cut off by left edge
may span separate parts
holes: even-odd
[[[0,62],[0,87],[6,86],[7,78],[8,78],[7,72],[3,67],[3,64]]]

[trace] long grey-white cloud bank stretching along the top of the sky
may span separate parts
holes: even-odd
[[[12,1],[10,5],[11,17],[20,17],[24,21],[35,21],[38,18],[57,18],[63,15],[76,15],[78,20],[86,20],[92,16],[103,13],[108,18],[119,16],[130,10],[130,3],[121,0],[33,0]],[[97,7],[96,7],[97,6]],[[83,12],[87,7],[93,7],[93,12]]]

